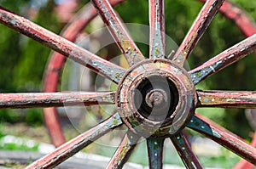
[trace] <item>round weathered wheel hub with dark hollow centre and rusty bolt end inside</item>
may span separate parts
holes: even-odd
[[[195,87],[188,73],[167,59],[147,59],[127,70],[116,104],[131,131],[143,137],[179,132],[195,112]]]

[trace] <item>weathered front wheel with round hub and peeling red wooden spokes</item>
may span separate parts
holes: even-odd
[[[166,59],[165,53],[165,17],[162,0],[149,1],[149,59],[145,59],[135,42],[131,40],[108,1],[93,0],[92,3],[125,55],[130,65],[128,70],[101,59],[84,48],[79,48],[74,43],[5,8],[0,8],[0,22],[4,25],[41,42],[118,84],[117,91],[104,93],[1,94],[1,107],[3,108],[73,105],[82,101],[85,105],[115,104],[118,111],[96,127],[62,144],[53,153],[33,162],[27,168],[57,166],[97,138],[120,126],[126,126],[127,132],[107,168],[122,167],[137,145],[139,138],[142,137],[147,140],[150,168],[162,168],[165,139],[172,140],[172,144],[187,168],[202,168],[187,138],[183,136],[184,127],[189,127],[211,138],[235,152],[236,155],[255,164],[256,149],[253,146],[195,113],[195,109],[200,107],[256,108],[255,92],[200,91],[195,90],[195,85],[255,51],[256,34],[253,33],[242,42],[224,50],[192,70],[183,68],[189,54],[207,30],[223,2],[208,0],[205,3],[194,25],[177,49],[173,59],[170,60]],[[51,73],[55,73],[55,70]],[[57,73],[54,78],[58,79]]]

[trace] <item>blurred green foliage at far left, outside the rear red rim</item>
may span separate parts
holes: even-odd
[[[59,33],[61,24],[54,12],[55,3],[49,1],[41,8],[32,8],[34,1],[21,0],[0,1],[4,8],[16,14],[28,17],[29,10],[38,10],[38,14],[32,21],[47,27],[49,31]],[[50,49],[38,42],[0,25],[0,92],[39,92],[41,91],[44,66],[49,57]],[[4,36],[3,36],[4,35]],[[31,125],[42,125],[42,110],[0,110],[0,121],[27,122]]]

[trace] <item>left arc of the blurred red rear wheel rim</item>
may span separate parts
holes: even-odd
[[[110,0],[112,5],[122,3],[124,0]],[[84,31],[84,27],[89,24],[90,20],[96,17],[96,9],[88,4],[82,8],[78,14],[73,17],[72,23],[68,24],[62,31],[61,37],[70,42],[75,42],[80,32]],[[49,59],[49,64],[44,72],[44,92],[58,91],[58,82],[61,77],[62,67],[65,65],[66,57],[60,53],[53,52]],[[119,76],[115,76],[116,79]],[[66,142],[61,125],[58,119],[56,108],[44,109],[45,125],[49,130],[51,143],[56,147]]]

